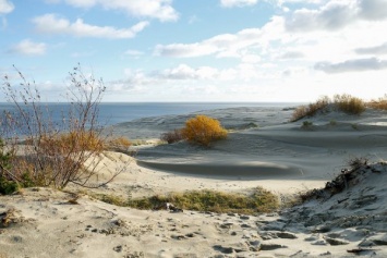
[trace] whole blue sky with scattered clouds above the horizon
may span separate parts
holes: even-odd
[[[57,101],[78,63],[104,101],[376,99],[387,0],[0,0],[2,78]]]

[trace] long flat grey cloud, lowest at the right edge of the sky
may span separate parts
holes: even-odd
[[[364,72],[387,69],[387,60],[376,58],[347,60],[340,63],[319,62],[314,66],[325,73]]]

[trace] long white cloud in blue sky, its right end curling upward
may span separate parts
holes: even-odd
[[[140,22],[130,28],[114,28],[110,26],[95,26],[77,19],[74,23],[70,23],[66,19],[58,17],[55,14],[45,14],[33,20],[36,29],[46,34],[62,34],[76,37],[95,37],[95,38],[133,38],[137,33],[148,26],[148,22]]]

